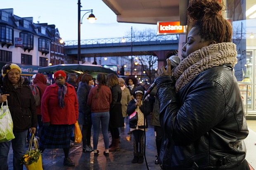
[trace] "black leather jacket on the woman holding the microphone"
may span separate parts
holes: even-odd
[[[163,170],[227,169],[242,163],[249,131],[231,65],[210,68],[175,93],[173,76],[156,79],[165,137]]]

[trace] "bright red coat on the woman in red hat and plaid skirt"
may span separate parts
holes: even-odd
[[[78,100],[75,88],[68,83],[66,87],[63,109],[58,104],[59,86],[55,83],[45,89],[41,101],[43,123],[50,121],[54,125],[71,125],[78,120]]]

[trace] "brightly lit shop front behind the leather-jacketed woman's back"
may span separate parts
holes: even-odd
[[[232,23],[232,42],[237,45],[235,66],[247,116],[256,115],[256,1],[224,0],[222,13]]]

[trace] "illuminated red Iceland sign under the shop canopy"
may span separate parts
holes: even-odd
[[[180,26],[180,22],[157,22],[157,35],[184,34],[186,26]]]

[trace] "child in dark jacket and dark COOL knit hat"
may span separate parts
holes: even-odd
[[[129,118],[134,112],[137,112],[137,121],[129,121],[130,131],[133,133],[133,160],[132,163],[143,163],[144,158],[144,116],[150,113],[149,101],[144,100],[142,105],[142,98],[144,96],[144,89],[141,86],[135,88],[133,93],[135,99],[129,102],[127,107],[127,114]],[[147,131],[147,119],[146,119],[146,131]],[[140,148],[139,148],[140,147]]]

